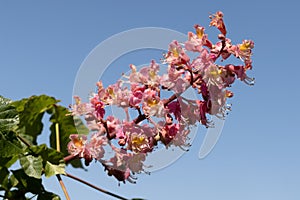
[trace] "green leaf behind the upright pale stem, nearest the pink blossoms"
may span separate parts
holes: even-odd
[[[69,155],[67,150],[67,145],[70,142],[69,136],[71,134],[85,134],[89,133],[88,128],[83,124],[80,118],[74,118],[70,115],[70,112],[67,108],[63,106],[56,106],[51,112],[50,121],[52,125],[50,126],[51,135],[50,135],[50,146],[56,148],[56,129],[55,124],[59,124],[59,135],[60,135],[60,146],[61,152],[65,156]],[[80,160],[75,160],[71,162],[71,165],[76,168],[83,168],[83,165]]]

